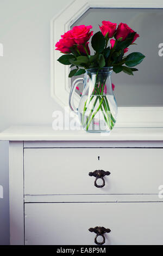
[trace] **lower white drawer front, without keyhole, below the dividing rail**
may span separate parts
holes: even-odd
[[[163,245],[162,203],[25,204],[26,245]],[[103,238],[98,237],[97,242]]]

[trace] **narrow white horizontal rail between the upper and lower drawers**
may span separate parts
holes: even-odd
[[[25,195],[25,203],[163,202],[158,194]]]

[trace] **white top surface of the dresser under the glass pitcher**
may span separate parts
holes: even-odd
[[[11,126],[0,133],[8,141],[163,141],[163,128],[114,128],[108,133],[53,130],[51,126]]]

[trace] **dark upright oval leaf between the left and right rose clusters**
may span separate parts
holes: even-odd
[[[103,34],[99,31],[96,34],[93,35],[91,44],[93,49],[96,52],[102,52],[105,47],[105,38],[103,37]]]

